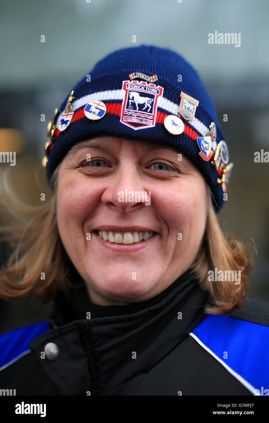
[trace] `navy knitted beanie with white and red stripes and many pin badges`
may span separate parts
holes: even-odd
[[[100,60],[73,91],[73,97],[69,93],[49,124],[51,139],[43,158],[49,182],[72,146],[94,136],[111,135],[160,143],[185,154],[209,185],[216,211],[221,209],[229,173],[225,173],[225,167],[232,165],[227,166],[228,147],[209,94],[196,71],[180,55],[146,45],[115,51]],[[97,107],[97,114],[104,113],[100,102],[105,105],[104,117],[87,117],[85,106],[92,101],[95,106],[88,107]],[[168,131],[164,122],[167,116],[169,121],[173,118],[174,126],[175,121],[181,120],[184,132],[174,135],[173,129]],[[63,123],[67,124],[66,129]],[[210,159],[203,149],[207,144]]]

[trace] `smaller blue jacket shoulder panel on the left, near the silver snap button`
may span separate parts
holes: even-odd
[[[49,330],[47,323],[41,321],[0,335],[0,369],[20,354],[30,351],[29,343]]]

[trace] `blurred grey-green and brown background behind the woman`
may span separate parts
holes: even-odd
[[[75,83],[116,49],[173,49],[198,71],[216,106],[234,163],[219,217],[226,231],[255,245],[249,296],[269,301],[269,163],[254,162],[256,151],[269,151],[269,2],[9,0],[0,11],[0,151],[16,151],[16,166],[0,163],[0,177],[10,168],[21,197],[40,204],[48,192],[41,167],[47,124]],[[209,44],[214,31],[240,33],[240,47]],[[5,245],[1,254],[8,256]],[[51,307],[0,299],[0,332],[40,321]]]

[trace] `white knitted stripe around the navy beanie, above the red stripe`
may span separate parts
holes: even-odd
[[[124,90],[107,90],[107,91],[98,91],[97,93],[88,94],[87,96],[81,97],[78,100],[75,100],[73,104],[72,112],[80,109],[89,102],[93,100],[100,100],[105,102],[108,100],[123,100],[125,96]],[[158,97],[157,107],[161,107],[166,110],[168,113],[178,116],[178,104],[170,102],[170,100],[165,97]],[[60,118],[59,118],[60,122]],[[57,122],[58,123],[58,122]],[[207,128],[203,122],[199,121],[197,118],[193,118],[192,121],[187,121],[187,124],[192,128],[196,129],[203,137],[206,137],[210,133],[210,129]],[[58,125],[57,125],[58,127]]]

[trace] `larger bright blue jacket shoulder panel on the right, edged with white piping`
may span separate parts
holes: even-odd
[[[269,389],[268,326],[208,315],[191,333],[255,390]]]

